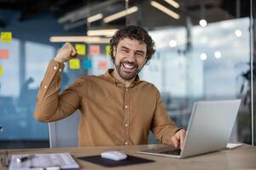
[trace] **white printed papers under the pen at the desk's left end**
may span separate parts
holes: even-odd
[[[29,155],[14,155],[9,170],[28,170],[30,167],[60,167],[61,169],[79,169],[79,164],[69,153],[35,154],[31,160],[17,162],[17,158]]]

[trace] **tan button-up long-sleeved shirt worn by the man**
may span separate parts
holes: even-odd
[[[130,88],[104,75],[80,77],[59,94],[64,65],[52,59],[38,91],[34,116],[39,122],[54,122],[79,109],[79,146],[148,144],[148,132],[171,144],[178,128],[167,115],[160,92],[140,81]]]

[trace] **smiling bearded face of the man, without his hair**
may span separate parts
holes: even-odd
[[[113,48],[114,65],[119,77],[131,80],[143,69],[146,62],[147,47],[144,42],[124,38]]]

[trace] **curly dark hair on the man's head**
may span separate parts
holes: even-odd
[[[129,37],[131,39],[136,39],[140,42],[144,42],[147,45],[147,60],[152,58],[152,55],[155,52],[154,47],[154,41],[152,38],[148,35],[148,31],[144,30],[140,26],[124,26],[120,28],[118,31],[115,32],[113,37],[110,40],[110,56],[111,59],[114,61],[113,56],[113,48],[116,48],[119,44],[119,41],[124,39],[125,37]]]

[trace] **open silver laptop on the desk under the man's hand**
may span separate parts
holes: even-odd
[[[193,105],[183,150],[163,146],[138,153],[185,158],[226,148],[241,99],[198,101]]]

